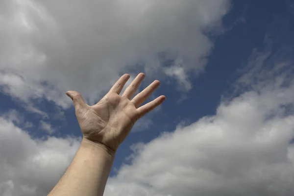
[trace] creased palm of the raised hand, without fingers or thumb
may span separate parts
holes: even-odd
[[[127,136],[126,131],[118,129],[130,130],[138,119],[138,113],[129,99],[115,93],[106,96],[77,118],[86,138],[116,149]]]

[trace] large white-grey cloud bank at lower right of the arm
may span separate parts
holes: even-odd
[[[293,195],[292,64],[268,51],[253,52],[235,84],[243,92],[216,115],[133,146],[105,196]]]

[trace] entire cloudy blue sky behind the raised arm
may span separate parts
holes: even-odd
[[[146,73],[166,101],[117,151],[105,196],[292,196],[293,0],[0,0],[0,196],[46,196],[95,104]]]

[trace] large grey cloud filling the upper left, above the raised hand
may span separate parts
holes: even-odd
[[[203,32],[218,29],[228,9],[229,0],[1,0],[0,87],[68,107],[66,90],[94,102],[140,67],[189,90],[187,72],[201,72],[213,47]]]

